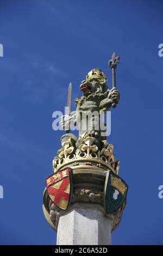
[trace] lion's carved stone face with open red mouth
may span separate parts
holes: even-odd
[[[96,77],[92,77],[90,80],[83,80],[80,83],[80,90],[83,92],[83,95],[102,93],[104,88],[106,88],[106,80],[99,80]]]

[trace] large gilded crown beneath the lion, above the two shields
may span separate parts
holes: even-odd
[[[81,138],[79,142],[69,138],[62,143],[58,156],[54,157],[53,170],[71,167],[72,169],[94,169],[105,172],[112,170],[118,174],[120,161],[113,154],[113,145],[102,141],[98,145],[93,137]]]

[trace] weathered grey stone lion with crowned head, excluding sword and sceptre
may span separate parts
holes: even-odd
[[[102,125],[100,120],[102,121],[102,115],[113,104],[118,103],[120,92],[115,87],[111,90],[108,88],[106,75],[100,69],[93,69],[88,73],[86,79],[80,84],[80,90],[83,96],[76,99],[77,109],[61,118],[62,128],[69,130],[71,125],[75,124],[78,126],[79,137],[86,134],[86,136],[105,139],[105,136],[101,135],[101,127],[104,127],[104,124]],[[96,114],[91,116],[91,113]],[[89,115],[91,118],[87,120]]]

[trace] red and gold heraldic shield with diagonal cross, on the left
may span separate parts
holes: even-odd
[[[71,196],[71,170],[66,168],[49,176],[46,187],[53,203],[62,210],[67,210]]]

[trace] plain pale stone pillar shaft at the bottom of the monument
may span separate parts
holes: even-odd
[[[100,205],[74,207],[59,217],[57,245],[111,245],[111,229]]]

